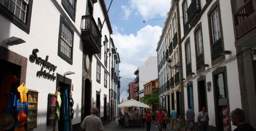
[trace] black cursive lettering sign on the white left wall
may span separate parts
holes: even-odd
[[[39,52],[38,49],[33,49],[32,54],[29,55],[29,60],[31,63],[35,62],[35,64],[42,66],[41,70],[36,72],[36,77],[43,77],[44,79],[54,81],[56,79],[56,76],[54,76],[54,73],[50,74],[50,72],[54,72],[57,69],[57,66],[48,62],[48,55],[46,55],[45,59],[42,59],[41,57],[37,56],[37,52]],[[46,72],[47,70],[43,71],[43,68],[47,69],[49,72]]]

